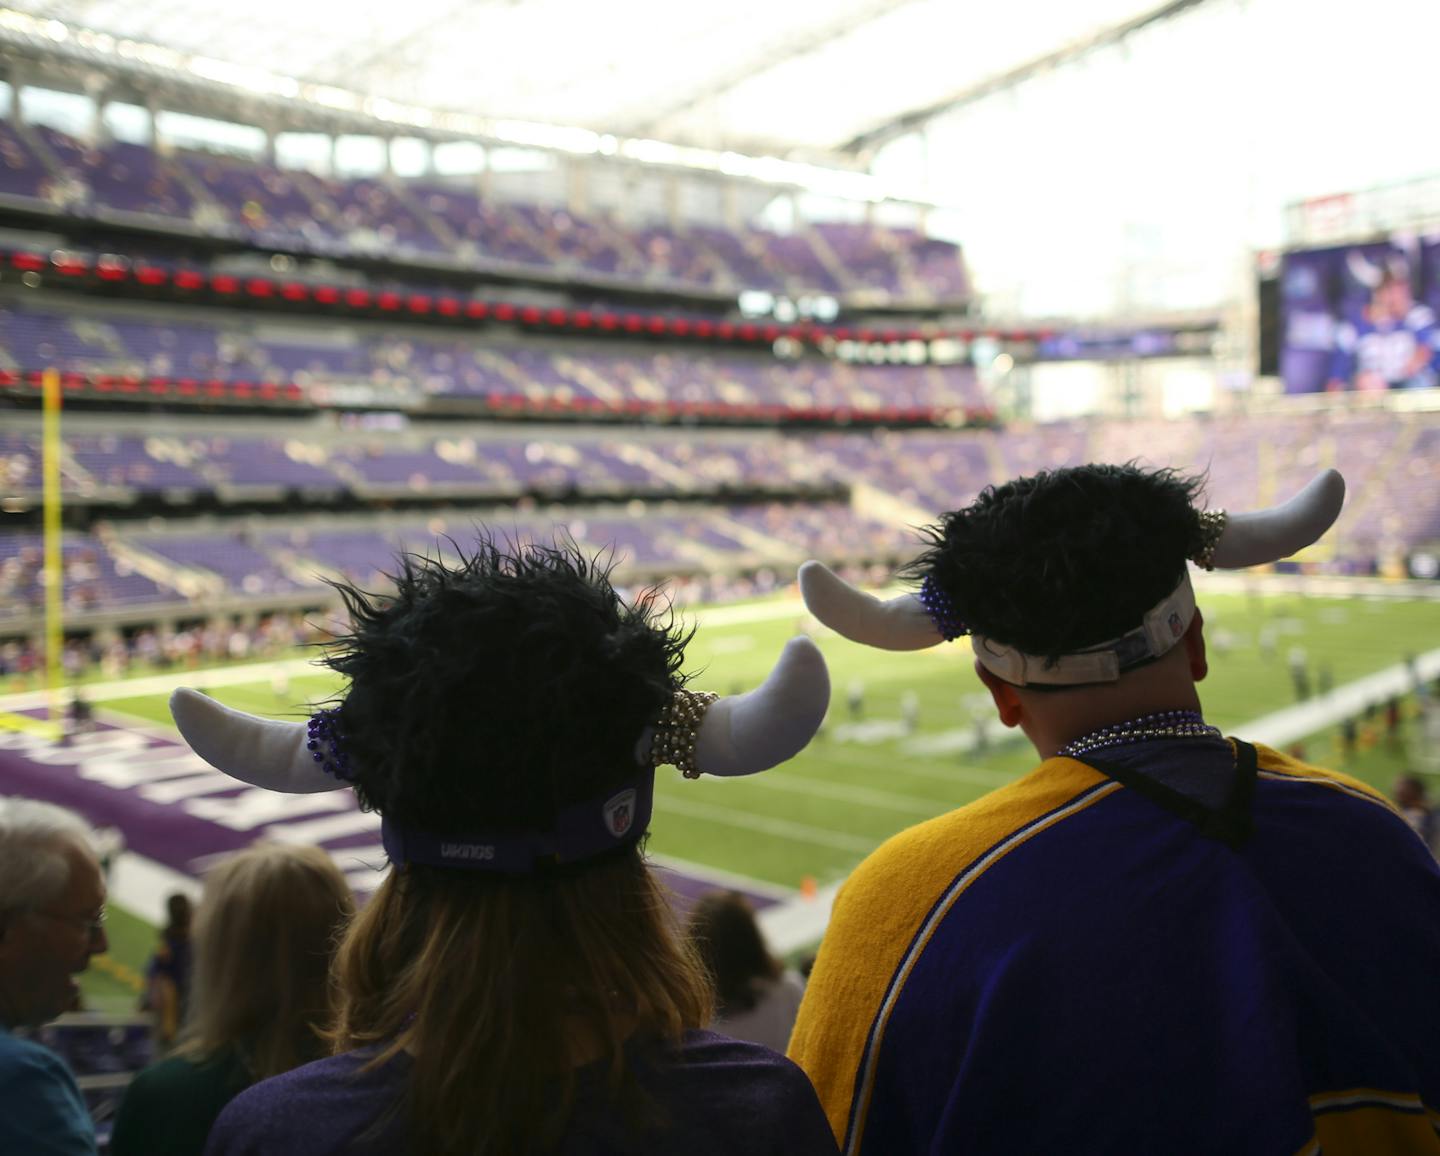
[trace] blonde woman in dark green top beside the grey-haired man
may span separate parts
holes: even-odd
[[[171,927],[189,923],[183,898]],[[180,1047],[125,1090],[112,1156],[199,1156],[243,1088],[327,1054],[330,966],[353,914],[344,875],[315,846],[259,844],[210,871]]]

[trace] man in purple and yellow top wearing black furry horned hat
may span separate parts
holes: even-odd
[[[1228,517],[1198,489],[1103,465],[986,489],[888,603],[801,570],[855,641],[972,635],[1041,757],[835,901],[791,1055],[847,1152],[1440,1152],[1440,867],[1382,795],[1224,736],[1197,688],[1187,559],[1293,554],[1344,484]]]

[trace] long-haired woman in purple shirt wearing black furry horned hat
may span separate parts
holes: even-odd
[[[212,764],[353,785],[393,870],[337,957],[338,1055],[242,1093],[210,1156],[822,1153],[804,1074],[701,1031],[708,985],[641,855],[658,763],[750,773],[829,690],[792,639],[757,691],[683,690],[688,635],[573,544],[409,556],[393,597],[341,586],[341,701],[304,724],[177,691]]]

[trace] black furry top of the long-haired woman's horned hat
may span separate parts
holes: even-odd
[[[393,595],[336,589],[353,631],[340,730],[366,808],[435,832],[547,829],[632,780],[635,743],[683,684],[690,632],[629,606],[575,543],[481,533],[459,560],[406,554]]]

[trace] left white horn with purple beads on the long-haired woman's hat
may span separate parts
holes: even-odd
[[[305,723],[282,723],[232,710],[189,687],[170,695],[170,717],[196,754],[242,783],[287,795],[348,786],[325,775],[307,750]]]

